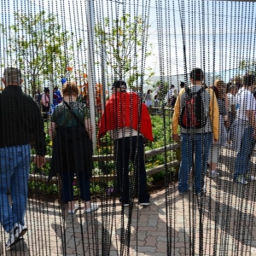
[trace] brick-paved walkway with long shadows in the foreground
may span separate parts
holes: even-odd
[[[1,255],[256,255],[256,182],[232,182],[230,150],[222,162],[221,177],[206,178],[200,199],[181,197],[173,184],[151,195],[150,207],[106,200],[93,214],[72,216],[66,208],[62,217],[58,203],[30,200],[24,241],[5,251],[1,230]]]

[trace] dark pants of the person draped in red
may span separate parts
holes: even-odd
[[[134,197],[131,195],[132,184],[137,188],[139,202],[148,202],[150,196],[147,192],[143,137],[123,137],[115,140],[114,154],[122,203],[127,204]],[[129,177],[130,163],[132,163],[134,172],[130,173]]]

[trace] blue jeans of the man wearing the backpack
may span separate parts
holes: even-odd
[[[212,146],[212,133],[197,133],[181,135],[182,160],[178,172],[178,191],[189,190],[189,172],[195,158],[195,193],[204,188],[204,177],[207,170],[209,148]],[[194,155],[195,154],[195,155]]]

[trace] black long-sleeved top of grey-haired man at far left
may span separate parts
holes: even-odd
[[[0,94],[0,148],[34,142],[38,155],[46,154],[44,120],[31,96],[17,85]]]

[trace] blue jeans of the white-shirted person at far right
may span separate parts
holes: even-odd
[[[234,181],[236,181],[238,176],[245,176],[249,173],[250,160],[253,154],[254,145],[255,140],[253,139],[253,128],[249,127],[243,133],[240,150],[236,155]]]

